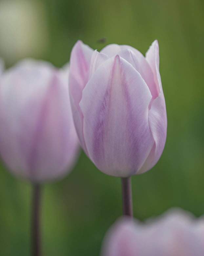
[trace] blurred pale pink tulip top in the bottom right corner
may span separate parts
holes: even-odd
[[[202,256],[204,219],[171,210],[145,224],[128,217],[106,234],[102,256]]]

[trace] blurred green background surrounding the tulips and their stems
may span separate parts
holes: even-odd
[[[203,215],[204,2],[43,0],[40,4],[49,40],[40,56],[29,57],[56,66],[69,61],[78,39],[93,49],[118,43],[143,54],[158,40],[167,141],[156,166],[132,177],[134,216],[144,220],[174,206]],[[103,37],[107,41],[98,43]],[[6,66],[11,64],[6,61]],[[1,166],[0,255],[30,255],[31,192],[29,183]],[[121,214],[120,179],[100,172],[81,152],[65,179],[42,188],[43,255],[99,255],[106,231]]]

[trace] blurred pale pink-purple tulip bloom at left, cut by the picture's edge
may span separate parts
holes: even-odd
[[[0,79],[0,154],[9,170],[32,182],[65,175],[78,155],[68,68],[25,60]]]

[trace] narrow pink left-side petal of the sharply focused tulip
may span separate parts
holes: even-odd
[[[80,144],[86,153],[87,150],[83,137],[83,115],[79,107],[79,102],[82,97],[82,91],[88,82],[92,53],[93,49],[83,44],[82,41],[77,41],[71,51],[70,57],[69,90],[71,108],[76,132]]]

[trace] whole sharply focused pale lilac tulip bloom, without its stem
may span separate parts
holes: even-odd
[[[78,41],[71,52],[69,88],[79,141],[99,170],[128,177],[157,163],[167,115],[156,40],[146,57],[128,45],[97,52]]]

